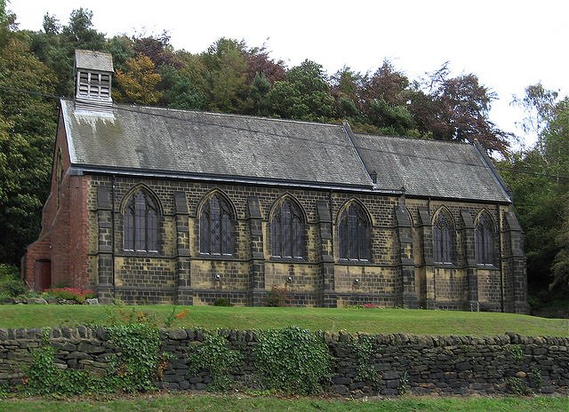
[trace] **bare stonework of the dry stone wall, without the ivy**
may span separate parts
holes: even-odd
[[[220,331],[228,345],[243,353],[243,363],[231,371],[236,384],[251,386],[255,379],[253,331]],[[26,381],[32,352],[42,345],[42,329],[0,329],[0,385]],[[495,337],[423,337],[414,335],[357,336],[322,333],[333,357],[327,390],[342,396],[416,394],[494,394],[511,392],[567,393],[569,337],[523,337],[508,333]],[[371,342],[362,358],[354,343]],[[190,347],[200,345],[197,329],[162,330],[162,351],[172,358],[156,385],[172,390],[201,390],[212,382],[204,370],[188,373]],[[59,368],[104,373],[117,353],[103,329],[53,328],[49,342],[56,348]],[[363,377],[365,376],[365,377]],[[371,378],[373,377],[373,378]]]

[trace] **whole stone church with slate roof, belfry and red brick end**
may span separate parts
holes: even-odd
[[[308,123],[117,105],[76,51],[51,194],[22,258],[35,289],[103,303],[526,313],[523,234],[485,150]]]

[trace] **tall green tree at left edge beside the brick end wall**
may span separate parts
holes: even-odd
[[[1,262],[17,264],[39,232],[57,118],[41,94],[52,94],[54,83],[51,70],[11,36],[0,50]]]

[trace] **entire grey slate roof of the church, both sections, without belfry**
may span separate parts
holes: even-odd
[[[477,147],[352,134],[342,125],[113,105],[113,114],[61,100],[76,167],[147,175],[348,187],[511,202]],[[377,173],[374,185],[369,172]]]

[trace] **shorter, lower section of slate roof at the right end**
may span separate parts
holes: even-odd
[[[477,147],[467,144],[355,134],[365,167],[383,188],[433,198],[511,202]]]

